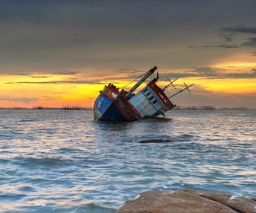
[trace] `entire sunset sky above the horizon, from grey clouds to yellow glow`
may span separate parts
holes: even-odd
[[[256,109],[255,8],[254,0],[2,0],[0,107],[92,106],[105,84],[123,87],[156,65],[161,87],[179,77],[168,96],[195,84],[174,104]]]

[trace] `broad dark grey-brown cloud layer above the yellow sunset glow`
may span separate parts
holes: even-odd
[[[2,0],[0,72],[23,72],[28,67],[44,72],[92,68],[104,75],[104,69],[139,69],[152,62],[175,68],[206,65],[207,59],[212,64],[210,52],[205,57],[200,51],[192,56],[184,47],[213,37],[221,26],[250,26],[256,20],[255,2],[250,2]],[[232,28],[222,32],[233,32]],[[211,43],[216,45],[190,48],[238,49],[235,44],[225,45],[232,43],[218,43],[216,37]]]

